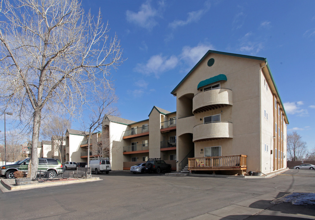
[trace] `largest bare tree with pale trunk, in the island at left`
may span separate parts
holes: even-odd
[[[77,0],[0,1],[0,111],[18,109],[32,127],[35,177],[41,119],[61,110],[77,116],[103,86],[113,88],[122,49],[100,12],[85,14]]]

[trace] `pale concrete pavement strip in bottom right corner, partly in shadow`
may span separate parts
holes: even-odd
[[[203,215],[190,218],[192,220],[302,220],[315,219],[315,205],[293,205],[288,202],[272,204],[279,194],[269,193],[238,202]],[[315,201],[314,201],[315,202]],[[314,204],[314,203],[313,203]]]

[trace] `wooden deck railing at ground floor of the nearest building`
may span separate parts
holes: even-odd
[[[246,170],[247,155],[188,158],[188,170]]]

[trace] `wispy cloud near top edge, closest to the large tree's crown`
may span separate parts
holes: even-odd
[[[142,4],[138,12],[129,10],[126,12],[127,21],[149,30],[157,25],[157,21],[155,20],[157,16],[159,16],[159,13],[151,7],[149,2]]]

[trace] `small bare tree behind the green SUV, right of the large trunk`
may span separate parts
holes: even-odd
[[[60,118],[60,116],[52,116],[43,126],[43,135],[52,139],[51,150],[53,153],[60,155],[61,163],[64,162],[62,161],[62,152],[68,128],[71,128],[71,121],[66,118]]]

